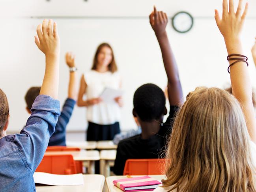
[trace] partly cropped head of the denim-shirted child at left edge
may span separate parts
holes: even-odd
[[[0,89],[0,138],[5,136],[3,131],[8,127],[9,123],[9,104],[6,94]]]

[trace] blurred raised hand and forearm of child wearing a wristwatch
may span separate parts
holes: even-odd
[[[71,52],[67,52],[65,55],[66,63],[69,68],[76,67],[75,64],[75,55]],[[68,89],[68,98],[77,100],[77,72],[69,71],[69,89]]]

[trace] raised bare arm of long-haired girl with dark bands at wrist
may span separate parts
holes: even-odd
[[[240,39],[241,30],[247,14],[248,4],[242,13],[242,0],[239,0],[237,11],[234,11],[234,1],[229,0],[229,9],[227,0],[223,0],[222,19],[215,10],[215,20],[221,34],[224,37],[228,54],[242,54],[243,49]],[[234,56],[237,58],[238,56]],[[231,57],[232,58],[232,57]],[[230,64],[235,62],[231,60]],[[247,129],[251,140],[256,143],[256,118],[252,104],[252,85],[247,64],[245,62],[235,63],[230,67],[230,79],[233,95],[240,102]]]

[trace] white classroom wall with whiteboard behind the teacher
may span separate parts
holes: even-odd
[[[237,1],[236,1],[237,2]],[[114,48],[123,78],[125,105],[121,113],[121,129],[135,126],[132,116],[133,93],[144,83],[166,86],[161,52],[148,21],[153,5],[172,17],[178,11],[194,16],[189,33],[178,34],[169,22],[167,32],[176,56],[184,96],[196,86],[223,88],[229,84],[226,50],[214,21],[214,8],[221,0],[0,0],[0,88],[10,105],[9,131],[17,132],[26,123],[24,95],[31,86],[40,86],[45,61],[34,44],[36,26],[43,18],[58,23],[61,39],[60,90],[61,104],[67,97],[68,67],[64,54],[76,54],[78,78],[92,65],[95,49],[107,41]],[[249,1],[250,10],[243,32],[245,54],[256,87],[256,70],[250,48],[256,36],[256,2]],[[67,131],[86,129],[86,109],[75,107]]]

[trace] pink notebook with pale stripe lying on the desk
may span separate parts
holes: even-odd
[[[125,192],[130,191],[153,191],[161,182],[149,177],[132,177],[117,179],[113,181],[114,185]]]

